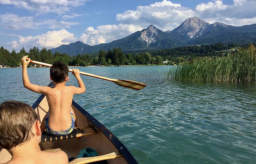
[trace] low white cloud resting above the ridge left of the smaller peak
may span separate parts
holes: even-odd
[[[109,43],[113,40],[121,39],[143,28],[139,25],[101,25],[96,29],[88,27],[81,35],[80,40],[85,44],[96,45]]]

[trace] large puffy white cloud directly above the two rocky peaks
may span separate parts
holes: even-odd
[[[196,12],[181,4],[164,0],[148,6],[137,6],[136,10],[127,10],[116,15],[116,20],[124,24],[148,27],[154,25],[167,31],[177,27],[189,17],[196,16]]]

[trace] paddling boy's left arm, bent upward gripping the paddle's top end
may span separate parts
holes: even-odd
[[[45,94],[47,92],[47,89],[50,89],[49,87],[42,87],[42,86],[39,86],[39,85],[31,84],[29,82],[27,66],[30,62],[30,58],[29,58],[28,61],[26,61],[27,57],[28,56],[23,56],[23,58],[21,59],[23,85],[24,85],[25,88],[27,88],[27,89],[29,89],[33,92]]]

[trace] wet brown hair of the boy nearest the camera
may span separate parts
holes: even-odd
[[[0,104],[0,145],[11,149],[31,138],[37,120],[35,110],[26,103],[6,101]]]

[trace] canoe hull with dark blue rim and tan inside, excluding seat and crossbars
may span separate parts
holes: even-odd
[[[49,84],[52,87],[52,83]],[[46,96],[41,95],[36,102],[32,105],[35,109],[40,124],[49,110]],[[63,150],[68,154],[68,157],[77,157],[79,151],[86,147],[92,147],[97,150],[99,155],[104,155],[112,152],[120,152],[123,158],[108,160],[109,164],[126,164],[126,163],[137,163],[132,154],[128,149],[111,133],[104,125],[102,125],[97,119],[93,118],[87,111],[79,106],[75,101],[72,101],[72,109],[76,115],[77,127],[92,128],[83,129],[83,133],[94,132],[93,129],[98,132],[95,135],[83,136],[79,139],[62,139],[56,141],[41,142],[39,144],[41,150],[54,151]],[[7,155],[6,155],[7,154]],[[10,160],[11,155],[2,149],[0,152],[0,163],[4,163]]]

